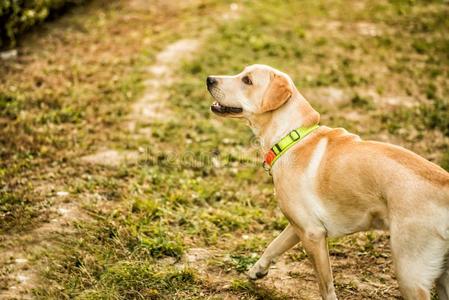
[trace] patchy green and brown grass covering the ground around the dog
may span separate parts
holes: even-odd
[[[286,273],[298,277],[295,292],[241,274],[286,220],[249,129],[210,114],[208,74],[271,64],[292,75],[323,124],[400,143],[448,168],[446,4],[236,3],[239,18],[225,22],[218,18],[229,9],[225,1],[144,11],[94,1],[30,34],[20,42],[23,58],[1,67],[1,233],[7,239],[41,224],[59,190],[90,218],[54,237],[52,251],[34,253],[37,298],[316,297],[300,246],[284,258],[301,266]],[[142,66],[170,42],[206,29],[211,34],[164,98],[171,118],[138,124],[149,136],[129,134],[124,124],[142,94]],[[348,101],[334,107],[316,97],[326,87]],[[412,106],[391,106],[392,96]],[[102,146],[137,151],[138,162],[77,159]],[[210,256],[189,263],[195,248]],[[398,297],[387,235],[330,241],[330,253],[340,298]]]

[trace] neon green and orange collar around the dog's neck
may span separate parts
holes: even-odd
[[[266,171],[270,172],[271,167],[276,162],[276,160],[282,156],[288,149],[293,147],[300,140],[305,138],[309,133],[320,127],[319,125],[313,125],[310,127],[299,127],[290,131],[286,136],[284,136],[279,142],[274,144],[265,155],[265,160],[263,162],[263,167]],[[271,173],[270,173],[271,174]]]

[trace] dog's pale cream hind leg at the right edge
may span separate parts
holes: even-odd
[[[422,224],[410,222],[401,228],[394,227],[390,231],[391,249],[402,296],[428,300],[433,283],[444,270],[447,242]],[[447,286],[447,276],[440,277],[440,281],[440,286]]]

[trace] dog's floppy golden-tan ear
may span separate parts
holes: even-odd
[[[275,110],[292,96],[292,89],[284,76],[274,74],[267,91],[263,95],[261,112]]]

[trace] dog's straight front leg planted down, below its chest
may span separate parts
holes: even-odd
[[[307,229],[302,229],[297,226],[294,226],[294,228],[315,269],[320,286],[321,297],[325,300],[337,299],[329,261],[326,230],[315,226]]]

